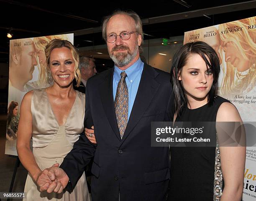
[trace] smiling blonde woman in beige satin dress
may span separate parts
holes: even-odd
[[[17,151],[28,170],[24,189],[27,198],[24,200],[90,201],[84,173],[70,194],[39,191],[41,183],[37,180],[42,170],[61,164],[84,130],[85,95],[75,91],[72,85],[74,78],[78,84],[81,81],[77,51],[69,41],[54,39],[47,44],[45,55],[53,85],[28,92],[20,108]],[[29,143],[31,136],[33,153]],[[49,181],[46,183],[49,186],[51,181],[45,180]]]

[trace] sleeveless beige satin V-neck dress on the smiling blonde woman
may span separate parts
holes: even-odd
[[[72,150],[74,142],[84,129],[84,108],[85,95],[77,91],[67,121],[59,126],[45,89],[34,90],[31,100],[33,155],[41,170],[51,167],[54,163],[61,164],[67,153]],[[24,188],[27,198],[23,201],[90,201],[84,173],[72,193],[47,193],[38,189],[28,174]]]

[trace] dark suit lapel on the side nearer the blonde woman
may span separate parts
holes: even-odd
[[[114,100],[113,100],[113,71],[105,77],[105,80],[100,84],[100,97],[103,104],[103,108],[105,114],[108,118],[108,121],[115,132],[116,137],[121,141],[116,117],[115,117],[115,107],[114,107]]]

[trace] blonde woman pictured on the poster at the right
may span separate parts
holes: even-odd
[[[222,81],[225,97],[255,92],[256,32],[249,28],[255,24],[256,17],[219,25],[221,48],[227,64]]]

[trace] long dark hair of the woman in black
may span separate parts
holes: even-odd
[[[207,103],[209,106],[211,106],[214,101],[218,78],[220,74],[220,61],[218,55],[214,51],[214,49],[205,42],[197,41],[187,43],[177,50],[172,60],[171,83],[173,86],[172,91],[174,96],[176,114],[179,114],[181,112],[180,108],[182,107],[182,105],[187,104],[187,97],[182,87],[182,83],[181,81],[179,81],[178,77],[180,72],[182,71],[183,66],[187,64],[188,57],[192,54],[199,54],[205,61],[207,68],[211,69],[212,71],[213,83],[210,91],[207,94]],[[207,60],[207,58],[209,58],[210,62]]]

